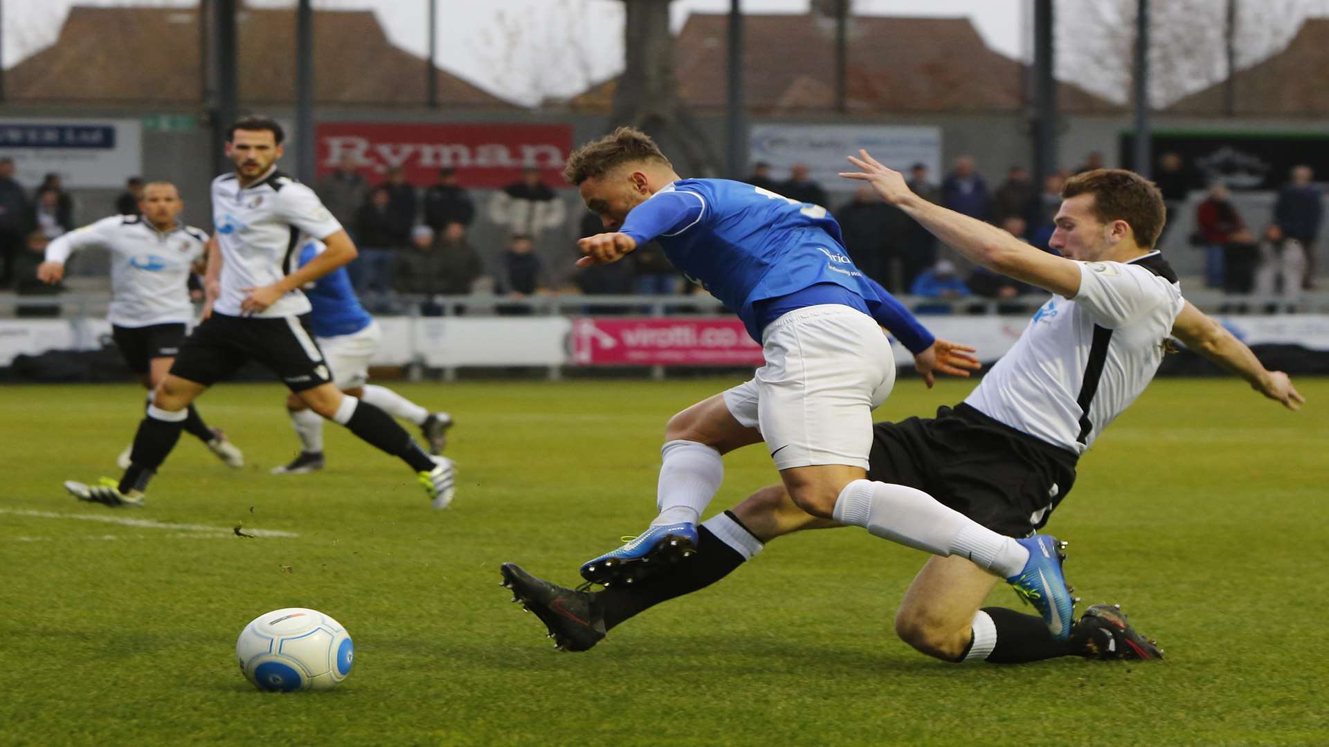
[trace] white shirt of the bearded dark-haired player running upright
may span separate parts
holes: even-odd
[[[213,179],[213,226],[222,250],[222,294],[213,308],[239,316],[245,288],[270,286],[296,270],[296,249],[307,237],[326,239],[342,223],[314,190],[276,170],[241,189],[234,173]],[[310,311],[294,290],[254,316],[291,316]]]

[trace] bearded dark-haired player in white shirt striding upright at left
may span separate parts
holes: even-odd
[[[142,505],[149,480],[179,440],[189,404],[250,360],[276,374],[310,409],[409,465],[436,506],[452,500],[451,463],[424,453],[388,413],[343,395],[306,328],[310,302],[300,286],[355,259],[355,245],[314,190],[276,169],[282,138],[282,126],[262,117],[227,130],[226,156],[235,170],[213,179],[217,233],[209,246],[203,319],[157,387],[129,469],[98,485],[66,481],[78,500]],[[307,238],[328,249],[296,268],[295,250]]]

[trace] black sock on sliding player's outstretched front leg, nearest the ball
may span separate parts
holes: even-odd
[[[724,512],[738,522],[732,513]],[[740,525],[742,526],[742,525]],[[704,589],[736,570],[747,558],[720,541],[706,525],[696,528],[696,553],[639,586],[609,587],[591,595],[605,618],[605,630],[655,605]]]

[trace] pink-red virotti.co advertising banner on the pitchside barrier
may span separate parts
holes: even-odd
[[[762,366],[738,319],[573,320],[574,366]]]

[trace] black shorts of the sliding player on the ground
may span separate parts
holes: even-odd
[[[994,532],[1025,537],[1071,492],[1076,459],[960,404],[873,425],[868,479],[917,488]]]

